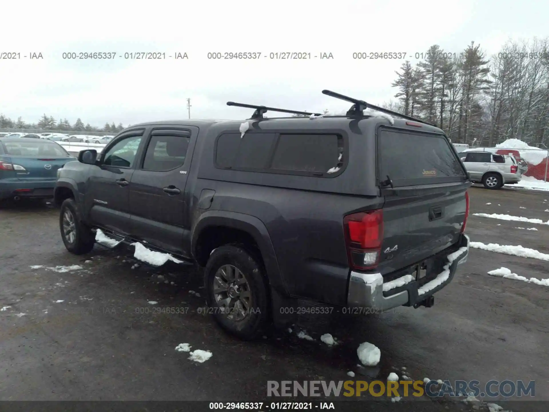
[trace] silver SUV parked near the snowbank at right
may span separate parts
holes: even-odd
[[[469,172],[471,181],[482,183],[487,189],[520,182],[517,160],[505,154],[483,151],[461,152],[460,159]]]

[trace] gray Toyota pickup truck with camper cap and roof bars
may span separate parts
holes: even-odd
[[[197,263],[216,321],[244,339],[294,321],[299,299],[432,307],[467,259],[463,164],[437,127],[323,93],[353,105],[229,102],[255,112],[132,125],[100,155],[80,152],[55,187],[65,247],[88,253],[101,229]]]

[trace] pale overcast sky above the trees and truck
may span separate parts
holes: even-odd
[[[381,104],[393,98],[390,85],[404,60],[354,60],[353,52],[413,56],[436,43],[459,53],[474,40],[492,54],[508,38],[549,35],[546,0],[53,0],[2,8],[0,53],[20,52],[21,59],[0,60],[0,113],[27,122],[43,113],[71,123],[80,117],[94,126],[184,119],[188,97],[192,118],[251,114],[227,101],[315,112],[349,107],[321,94],[324,88]],[[32,52],[43,59],[23,57]],[[122,57],[65,60],[63,52]],[[165,52],[166,59],[125,59],[126,52]],[[167,58],[176,52],[188,59]],[[262,55],[216,61],[208,52]],[[334,58],[270,59],[277,52]]]

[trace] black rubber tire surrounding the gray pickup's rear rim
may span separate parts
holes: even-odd
[[[246,285],[242,285],[242,288],[237,286],[238,290],[248,290],[250,294],[244,319],[236,319],[237,310],[234,310],[236,306],[229,313],[223,313],[215,297],[216,274],[226,265],[238,269],[247,282]],[[204,283],[208,307],[211,308],[216,322],[224,330],[244,340],[255,339],[265,331],[270,322],[266,273],[261,260],[253,253],[249,253],[240,244],[227,244],[215,249],[204,269]],[[219,296],[223,293],[221,292]],[[225,296],[229,299],[228,292]],[[231,302],[232,299],[230,299]],[[240,308],[245,307],[240,305]]]

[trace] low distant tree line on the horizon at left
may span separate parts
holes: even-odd
[[[42,129],[55,131],[117,133],[124,130],[124,126],[122,123],[116,125],[113,121],[113,123],[105,123],[103,127],[96,127],[90,125],[89,123],[84,124],[80,118],[76,119],[74,124],[71,124],[68,119],[56,120],[52,116],[47,116],[46,114],[44,114],[37,123],[27,123],[22,117],[19,117],[17,120],[13,121],[0,113],[0,129]]]

